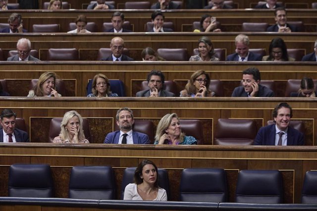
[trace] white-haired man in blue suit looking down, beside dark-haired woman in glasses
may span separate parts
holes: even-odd
[[[227,56],[227,61],[261,61],[258,53],[249,52],[250,39],[247,35],[239,34],[235,38],[236,53]]]

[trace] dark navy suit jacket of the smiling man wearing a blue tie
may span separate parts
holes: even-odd
[[[253,144],[275,146],[275,134],[276,134],[275,124],[261,127]],[[287,146],[302,146],[302,145],[304,145],[304,134],[292,127],[288,127]]]

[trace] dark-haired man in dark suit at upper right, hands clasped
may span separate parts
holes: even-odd
[[[286,9],[278,7],[274,11],[276,24],[269,26],[267,32],[298,32],[296,26],[287,23]]]

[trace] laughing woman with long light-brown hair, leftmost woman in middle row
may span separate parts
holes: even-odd
[[[54,72],[43,73],[27,97],[61,97],[55,90],[55,81],[56,74]]]

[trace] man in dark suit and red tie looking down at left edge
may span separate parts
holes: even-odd
[[[30,142],[27,132],[15,128],[16,113],[11,109],[1,112],[0,142]]]

